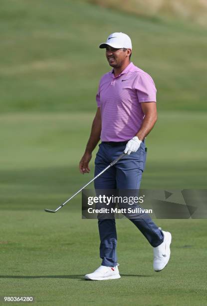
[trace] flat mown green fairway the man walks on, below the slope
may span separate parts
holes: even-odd
[[[89,175],[77,169],[92,118],[0,115],[0,295],[33,295],[48,306],[205,305],[206,220],[156,220],[173,235],[172,259],[160,273],[141,233],[117,220],[122,278],[83,280],[100,264],[96,220],[81,219],[81,195],[56,214],[43,209],[57,207],[92,177],[93,166]],[[199,133],[206,128],[205,114],[161,112],[147,140],[142,187],[206,187],[207,144]]]

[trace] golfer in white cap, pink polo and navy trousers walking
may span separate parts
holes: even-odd
[[[145,137],[157,120],[156,87],[152,77],[131,61],[132,43],[128,35],[115,32],[100,48],[113,68],[104,74],[96,95],[97,112],[91,134],[80,160],[81,173],[90,171],[92,151],[101,139],[95,159],[95,175],[123,151],[126,155],[99,176],[96,189],[139,189],[146,160]],[[171,233],[162,231],[149,215],[130,219],[153,246],[155,271],[162,270],[170,259]],[[115,219],[99,219],[101,266],[85,279],[120,278],[116,245]]]

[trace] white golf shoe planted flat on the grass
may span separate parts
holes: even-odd
[[[115,267],[100,265],[93,273],[86,274],[85,279],[90,280],[105,280],[120,278],[119,269],[117,264]]]

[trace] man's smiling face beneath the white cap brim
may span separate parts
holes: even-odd
[[[125,60],[127,60],[128,50],[123,50],[123,48],[116,49],[108,45],[106,47],[106,58],[110,66],[115,68],[121,67]]]

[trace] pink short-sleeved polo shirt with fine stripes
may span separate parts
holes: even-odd
[[[101,141],[125,141],[136,135],[144,118],[141,102],[156,102],[152,77],[133,62],[118,75],[113,69],[99,83],[96,101],[101,107]]]

